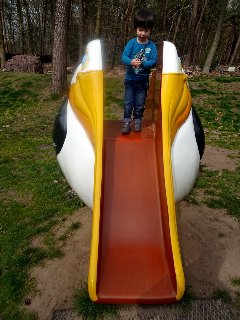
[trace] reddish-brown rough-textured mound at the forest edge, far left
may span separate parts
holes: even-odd
[[[31,73],[43,73],[43,66],[40,58],[35,54],[21,54],[7,60],[4,65],[5,71],[19,71]]]

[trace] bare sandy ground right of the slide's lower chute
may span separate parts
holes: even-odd
[[[186,283],[199,298],[209,297],[216,287],[232,292],[229,276],[239,276],[239,221],[224,209],[186,201],[176,205],[176,215]]]

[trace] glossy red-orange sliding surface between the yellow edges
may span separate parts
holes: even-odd
[[[152,121],[121,128],[104,122],[96,302],[176,302],[162,139]]]

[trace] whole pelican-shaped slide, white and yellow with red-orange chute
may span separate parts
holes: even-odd
[[[142,131],[104,120],[100,41],[90,42],[53,132],[70,186],[93,209],[88,289],[97,303],[172,303],[185,280],[175,203],[191,191],[202,124],[175,46],[163,42]]]

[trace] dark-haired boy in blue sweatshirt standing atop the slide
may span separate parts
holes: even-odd
[[[137,37],[130,40],[122,55],[123,63],[127,66],[124,85],[124,119],[122,134],[130,132],[132,109],[134,132],[141,132],[141,118],[147,98],[150,68],[156,66],[157,51],[155,44],[148,40],[154,26],[154,17],[150,10],[139,10],[133,20]]]

